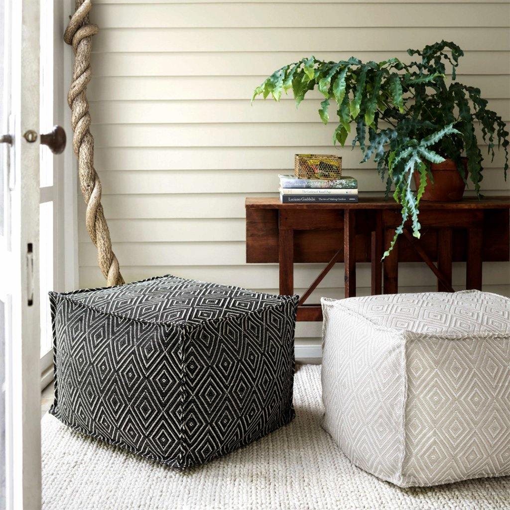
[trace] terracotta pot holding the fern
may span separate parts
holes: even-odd
[[[464,163],[465,174],[467,175],[467,158],[462,158]],[[427,186],[421,199],[428,200],[431,202],[456,202],[462,200],[466,183],[463,181],[460,173],[458,173],[455,162],[451,159],[447,159],[443,163],[430,164],[430,171],[434,182],[431,183],[427,175]],[[420,174],[414,173],[414,180],[416,189],[420,185]]]

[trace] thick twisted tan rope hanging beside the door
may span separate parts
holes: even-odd
[[[87,85],[92,77],[90,53],[92,36],[99,32],[97,25],[89,23],[91,0],[76,0],[76,12],[64,32],[64,41],[74,50],[72,83],[67,94],[71,108],[71,124],[74,131],[72,146],[78,159],[80,188],[87,205],[85,223],[90,239],[97,248],[99,268],[107,285],[122,285],[124,280],[119,263],[112,251],[110,231],[101,206],[101,181],[94,168],[94,138],[90,133],[90,114]]]

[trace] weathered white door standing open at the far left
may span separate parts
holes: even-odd
[[[0,135],[5,135],[0,144],[0,508],[37,509],[40,338],[41,333],[43,338],[48,335],[41,331],[47,310],[40,312],[39,268],[42,263],[43,283],[53,282],[45,268],[53,263],[47,243],[53,246],[53,228],[48,225],[54,220],[44,204],[55,200],[49,163],[44,164],[53,161],[53,155],[48,147],[40,147],[40,0],[0,0],[0,23],[0,34],[5,34],[0,46]],[[44,139],[48,140],[52,138]]]

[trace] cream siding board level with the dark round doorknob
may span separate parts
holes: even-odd
[[[383,126],[380,123],[380,126]],[[95,145],[116,147],[203,147],[203,146],[288,146],[333,145],[335,124],[321,123],[240,123],[240,124],[101,124],[91,126]],[[508,126],[507,126],[508,129]],[[481,140],[478,127],[475,134]],[[351,131],[346,145],[355,133]]]

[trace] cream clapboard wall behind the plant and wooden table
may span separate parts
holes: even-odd
[[[290,97],[250,106],[254,87],[303,56],[408,60],[408,47],[446,39],[466,53],[458,79],[480,87],[508,121],[509,19],[508,2],[95,0],[95,166],[126,281],[172,273],[277,292],[276,265],[245,263],[246,197],[276,196],[277,174],[292,172],[296,152],[335,151],[361,190],[383,187],[359,149],[331,147],[334,124],[320,122],[316,93],[299,110]],[[486,162],[487,194],[508,191],[502,165],[502,155]],[[104,285],[78,202],[80,285]],[[296,292],[321,269],[296,265]],[[311,299],[342,297],[342,271],[339,264]],[[456,264],[456,288],[464,273]],[[509,279],[508,263],[484,264],[487,290],[508,295]],[[420,264],[401,265],[399,282],[401,292],[435,289]],[[368,265],[359,265],[358,285],[369,293]],[[298,324],[298,358],[320,355],[320,327]]]

